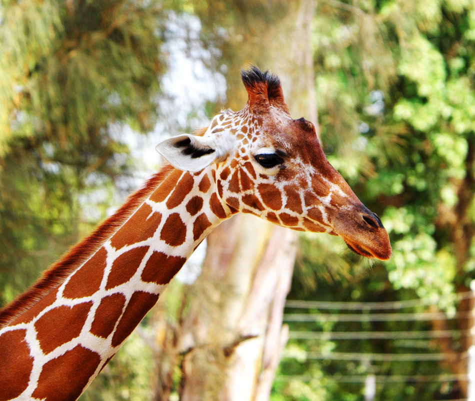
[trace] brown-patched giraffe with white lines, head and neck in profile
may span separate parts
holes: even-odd
[[[0,311],[0,401],[76,399],[198,244],[238,212],[390,257],[380,219],[328,163],[313,124],[290,117],[278,77],[251,67],[241,78],[241,111],[161,141],[168,163]]]

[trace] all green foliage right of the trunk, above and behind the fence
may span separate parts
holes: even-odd
[[[350,254],[341,256],[338,242],[302,237],[294,299],[331,299],[336,293],[338,300],[353,300],[356,293],[358,300],[366,301],[379,295],[384,300],[417,295],[448,316],[464,311],[463,303],[455,301],[456,292],[467,289],[475,266],[474,17],[475,4],[469,1],[318,2],[313,47],[324,150],[363,203],[381,217],[393,256],[384,264],[387,275],[381,274],[379,263],[368,268]],[[353,290],[346,292],[349,288]],[[292,323],[291,329],[354,329],[337,326],[304,328]],[[401,330],[402,325],[384,329]],[[463,341],[457,341],[450,347],[463,349]],[[312,347],[331,345],[336,346],[292,340],[288,347],[305,355]],[[335,350],[357,347],[377,353],[401,348],[379,346],[374,341],[338,343]],[[362,399],[361,384],[318,379],[355,372],[360,365],[336,366],[303,356],[300,363],[284,360],[280,374],[304,375],[308,369],[317,379],[277,381],[275,393],[310,399],[302,394],[312,386],[315,393],[324,392],[321,399]],[[441,371],[433,362],[380,368],[402,375]],[[436,387],[423,392],[420,383],[379,385],[376,397],[465,396],[456,386],[453,393],[450,386]]]

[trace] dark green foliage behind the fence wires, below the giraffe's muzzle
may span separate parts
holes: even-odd
[[[311,240],[305,239],[304,242]],[[317,253],[317,251],[313,251]],[[296,274],[301,274],[300,266],[297,265]],[[356,273],[358,270],[356,271]],[[316,291],[303,294],[300,283],[294,281],[289,293],[289,299],[323,301],[334,305],[338,302],[387,302],[403,301],[414,299],[415,293],[412,290],[394,289],[389,283],[387,271],[383,266],[375,265],[369,273],[355,274],[349,278],[338,279],[336,276],[331,281],[323,275],[317,275]],[[423,302],[411,307],[410,309],[388,310],[394,312],[423,312],[425,309]],[[385,310],[370,311],[364,307],[355,310],[338,310],[336,306],[331,309],[315,307],[301,309],[296,307],[287,307],[285,313],[292,314],[333,314],[333,313],[355,313],[360,321],[333,321],[333,320],[314,320],[314,321],[292,321],[288,319],[286,324],[291,333],[298,334],[319,334],[325,333],[328,338],[335,331],[338,333],[355,333],[354,338],[350,339],[290,339],[285,351],[284,357],[279,365],[276,380],[273,385],[273,401],[285,400],[304,400],[304,399],[335,399],[341,401],[364,399],[364,379],[369,374],[382,377],[382,380],[376,382],[375,399],[391,400],[431,400],[456,398],[456,386],[453,382],[441,384],[439,380],[433,377],[437,374],[447,373],[447,369],[433,361],[378,361],[367,358],[360,360],[338,360],[332,359],[332,352],[367,353],[367,354],[398,354],[411,353],[433,353],[437,352],[436,344],[428,340],[408,340],[408,339],[367,339],[357,338],[359,332],[385,332],[387,334],[397,335],[401,331],[425,331],[429,332],[430,322],[427,321],[367,321],[362,319],[367,313],[385,313]],[[321,316],[321,315],[320,315]],[[310,319],[311,320],[311,319]],[[356,319],[358,320],[358,319]],[[454,345],[456,342],[453,343]],[[328,358],[314,358],[312,353],[328,354]],[[392,381],[391,378],[397,377]],[[410,378],[415,376],[426,376],[427,380],[415,380]],[[429,378],[431,377],[431,378]],[[385,379],[384,379],[385,378]],[[454,390],[455,388],[455,390]]]

